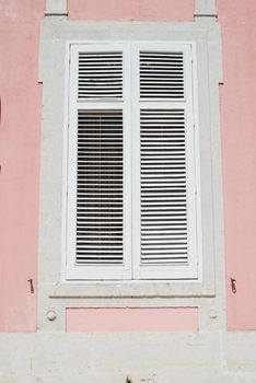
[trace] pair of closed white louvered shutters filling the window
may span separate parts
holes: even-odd
[[[195,46],[69,48],[66,278],[197,279]]]

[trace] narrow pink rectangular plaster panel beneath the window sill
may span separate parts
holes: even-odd
[[[197,307],[67,309],[68,333],[197,332]]]

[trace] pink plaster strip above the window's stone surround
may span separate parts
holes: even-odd
[[[194,0],[69,0],[72,20],[193,21]]]

